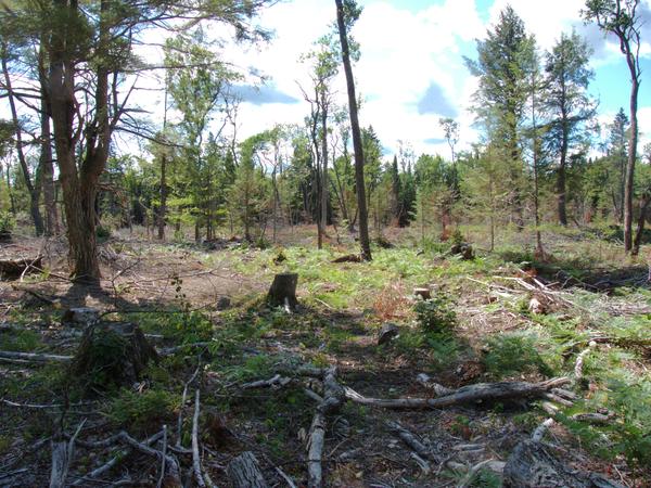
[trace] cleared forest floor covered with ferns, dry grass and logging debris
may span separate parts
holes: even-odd
[[[0,486],[47,486],[51,441],[79,426],[68,484],[156,486],[155,454],[119,439],[98,441],[122,431],[141,440],[163,425],[193,486],[186,478],[195,406],[202,465],[216,486],[229,486],[226,466],[244,451],[256,455],[269,486],[307,486],[306,442],[318,404],[310,391],[327,393],[319,381],[292,375],[305,364],[335,365],[341,385],[369,398],[435,398],[420,373],[452,389],[566,376],[575,397],[400,410],[346,401],[327,416],[326,486],[499,487],[514,447],[553,418],[545,442],[565,464],[651,487],[651,285],[643,259],[625,258],[620,243],[588,230],[547,230],[545,262],[533,256],[531,233],[509,233],[494,253],[475,249],[463,260],[449,244],[419,249],[417,237],[394,230],[385,234],[394,246],[373,248],[372,262],[333,264],[357,251],[354,240],[337,243],[333,231],[318,251],[314,232],[286,230],[282,245],[266,249],[115,233],[101,245],[101,288],[66,279],[63,241],[2,244],[0,254],[44,259],[42,273],[0,281],[0,351],[74,355],[81,331],[62,314],[80,306],[99,309],[102,320],[138,324],[159,351],[184,347],[162,354],[132,385],[102,387],[97,377],[73,376],[68,362],[0,354]],[[468,234],[481,247],[478,231]],[[281,272],[298,274],[293,313],[265,304]],[[430,288],[432,299],[419,300],[416,287]],[[379,345],[386,322],[399,334]],[[277,373],[272,386],[251,385]],[[424,450],[414,452],[391,422]],[[159,451],[164,444],[152,446]]]

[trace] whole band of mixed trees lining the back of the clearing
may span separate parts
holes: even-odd
[[[637,252],[651,202],[649,164],[636,165],[651,158],[649,146],[637,152],[637,0],[588,0],[584,12],[617,36],[630,69],[630,111],[617,114],[607,142],[593,143],[586,42],[563,34],[540,52],[507,8],[477,42],[476,61],[467,60],[480,80],[474,112],[484,139],[458,152],[459,125],[441,119],[449,157],[417,157],[408,143],[386,157],[372,126],[359,127],[352,72],[359,46],[348,33],[360,9],[353,0],[335,0],[337,22],[302,59],[311,75],[302,87],[305,123],[241,140],[242,76],[221,61],[206,25],[225,23],[243,41],[265,39],[252,22],[269,3],[8,4],[0,23],[0,97],[10,110],[0,123],[0,206],[29,208],[37,234],[59,233],[64,223],[73,275],[91,280],[100,275],[95,229],[108,219],[145,224],[161,240],[192,226],[197,241],[220,228],[275,240],[282,226],[315,222],[319,246],[334,224],[359,230],[368,259],[369,226],[381,235],[386,226],[416,224],[424,239],[436,224],[447,239],[459,222],[485,221],[493,242],[503,222],[538,229],[544,220],[604,219],[621,222],[626,249]],[[152,29],[166,33],[156,66],[138,55]],[[342,67],[343,105],[334,87]],[[137,100],[140,77],[154,72],[165,90],[157,124]],[[120,138],[136,138],[144,151],[117,151]],[[590,158],[596,151],[601,155]],[[537,243],[541,252],[539,232]]]

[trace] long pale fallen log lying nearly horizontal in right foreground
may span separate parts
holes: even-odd
[[[438,398],[367,398],[347,386],[344,387],[344,389],[346,398],[361,404],[382,407],[386,409],[437,409],[476,401],[539,397],[551,388],[556,388],[567,383],[570,383],[570,378],[567,377],[556,377],[540,383],[477,383],[475,385],[463,386],[454,390],[449,395]]]

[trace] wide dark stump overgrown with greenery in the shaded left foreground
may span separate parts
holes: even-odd
[[[72,374],[88,387],[132,385],[156,349],[148,343],[140,328],[129,322],[91,323],[81,336]]]

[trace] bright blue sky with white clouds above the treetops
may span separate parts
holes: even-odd
[[[642,84],[639,92],[640,146],[651,142],[651,0],[641,0]],[[471,97],[477,80],[464,56],[476,57],[476,41],[495,25],[507,0],[359,0],[363,7],[353,36],[361,48],[354,66],[356,88],[363,98],[360,121],[372,125],[394,154],[398,141],[417,154],[449,155],[441,117],[460,124],[458,149],[469,149],[481,134],[473,127]],[[526,29],[541,50],[550,49],[561,33],[576,29],[593,49],[595,78],[590,93],[599,100],[599,120],[609,124],[620,107],[628,112],[630,77],[614,38],[604,37],[580,20],[583,0],[511,0]],[[335,21],[332,0],[285,0],[265,10],[258,23],[273,31],[258,47],[227,46],[224,56],[243,69],[255,68],[266,82],[258,90],[243,87],[239,134],[244,138],[273,124],[302,124],[309,114],[299,86],[309,87],[309,65],[299,61]],[[646,40],[644,40],[646,39]],[[250,84],[254,80],[250,78]],[[341,103],[346,100],[343,76],[335,82]]]

